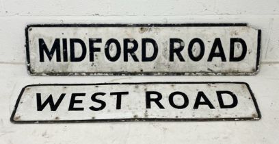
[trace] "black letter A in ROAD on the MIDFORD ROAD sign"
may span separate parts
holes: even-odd
[[[215,53],[217,47],[219,48],[219,53]],[[215,38],[207,61],[211,62],[214,57],[220,57],[222,62],[226,62],[226,56],[220,38]]]

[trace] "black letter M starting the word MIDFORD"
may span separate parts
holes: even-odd
[[[44,39],[39,38],[40,62],[44,62],[44,52],[47,54],[47,58],[49,58],[49,61],[51,61],[55,51],[56,51],[56,61],[61,62],[59,38],[55,38],[53,46],[51,47],[51,51],[49,51],[49,48],[47,48],[46,43],[44,43]]]

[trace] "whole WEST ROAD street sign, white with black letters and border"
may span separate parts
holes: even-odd
[[[258,120],[244,82],[37,84],[19,95],[13,123]]]

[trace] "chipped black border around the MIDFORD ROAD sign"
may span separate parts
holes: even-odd
[[[258,29],[258,42],[257,42],[257,57],[256,57],[256,69],[253,72],[228,72],[228,73],[212,73],[212,72],[76,72],[76,73],[34,73],[31,71],[30,65],[30,53],[29,53],[29,36],[28,29],[30,27],[247,27],[248,23],[172,23],[172,24],[33,24],[27,25],[25,28],[25,47],[27,58],[27,71],[30,75],[40,76],[44,75],[255,75],[258,73],[260,52],[261,52],[261,29]]]

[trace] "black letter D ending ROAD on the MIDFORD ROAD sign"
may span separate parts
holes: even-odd
[[[242,53],[239,57],[235,57],[235,43],[241,43]],[[230,38],[230,62],[239,62],[243,60],[247,53],[247,45],[241,38]]]

